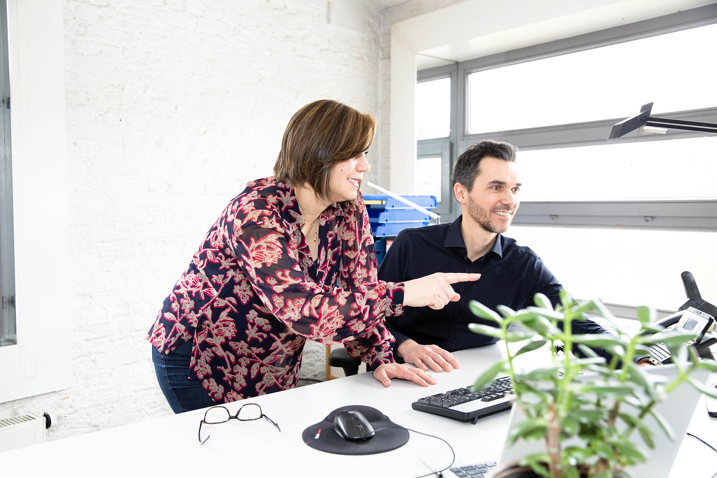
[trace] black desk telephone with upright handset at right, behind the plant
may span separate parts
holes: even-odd
[[[715,322],[717,315],[717,307],[702,299],[700,291],[697,288],[695,277],[692,272],[682,273],[682,282],[685,286],[685,293],[688,300],[685,302],[678,312],[668,315],[663,319],[655,322],[664,328],[675,325],[673,332],[678,333],[697,333],[695,341],[685,342],[685,347],[694,345],[697,353],[702,358],[711,358],[714,360],[710,346],[717,343],[717,338],[712,337],[707,331]],[[666,332],[665,332],[666,333]],[[671,363],[672,355],[665,345],[656,344],[647,347],[650,350],[650,356],[660,363]]]

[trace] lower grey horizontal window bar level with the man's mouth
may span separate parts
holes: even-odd
[[[717,231],[717,199],[523,201],[513,225]]]

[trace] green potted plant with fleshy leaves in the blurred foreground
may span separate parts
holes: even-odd
[[[647,446],[654,446],[653,433],[642,420],[647,415],[654,416],[663,432],[674,439],[667,421],[655,411],[655,404],[683,382],[708,393],[690,373],[697,368],[717,372],[717,365],[700,360],[692,347],[684,346],[685,340],[694,340],[694,335],[663,333],[656,337],[662,328],[652,323],[654,312],[648,307],[638,307],[640,332],[631,335],[598,300],[578,303],[561,290],[561,303],[555,307],[542,294],[536,294],[534,302],[537,307],[518,312],[499,305],[500,315],[479,302],[470,303],[475,315],[497,325],[471,324],[470,330],[502,339],[506,349],[505,360],[485,371],[474,390],[485,388],[497,376],[510,376],[516,405],[526,420],[508,432],[508,446],[518,439],[545,442],[544,451],[523,457],[519,464],[522,470],[515,467],[514,472],[496,470],[495,474],[550,478],[630,476],[630,467],[647,459],[645,451],[631,441],[632,434],[637,432]],[[612,322],[617,336],[572,333],[572,322],[583,320],[591,312]],[[673,353],[678,378],[671,383],[656,380],[647,373],[649,367],[633,363],[636,355],[647,355],[646,345],[657,342],[668,345]],[[511,345],[515,343],[518,347]],[[536,353],[547,344],[551,358],[546,366],[533,370],[516,366],[519,355]],[[564,351],[556,352],[556,345],[564,345]],[[597,355],[594,348],[609,351],[612,360],[608,362]],[[574,349],[581,350],[584,357],[574,355]],[[569,446],[568,439],[571,444],[580,444]]]

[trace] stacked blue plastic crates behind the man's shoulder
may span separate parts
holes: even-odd
[[[435,196],[401,196],[424,207],[435,209]],[[407,227],[420,227],[430,224],[428,214],[383,194],[364,194],[366,210],[369,211],[371,231],[376,239],[376,259],[379,264],[386,254],[386,237],[396,236]]]

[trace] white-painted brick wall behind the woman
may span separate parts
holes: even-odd
[[[270,174],[300,106],[378,113],[381,16],[363,9],[356,32],[328,24],[327,6],[65,2],[73,380],[0,417],[62,409],[57,439],[171,413],[144,336],[206,230]],[[303,377],[323,379],[323,346],[304,360]]]

